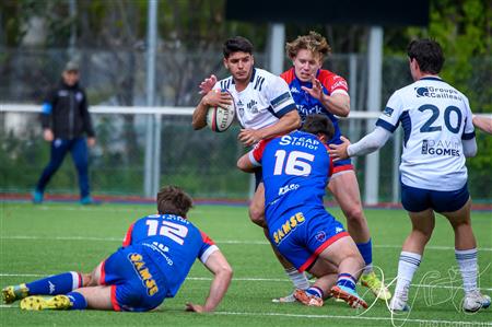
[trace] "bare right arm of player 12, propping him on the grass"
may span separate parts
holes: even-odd
[[[215,250],[204,262],[204,266],[214,275],[210,285],[210,292],[204,305],[194,303],[186,304],[186,311],[212,312],[219,305],[227,292],[233,276],[233,270],[220,250]]]

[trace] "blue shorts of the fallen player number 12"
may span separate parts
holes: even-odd
[[[101,284],[112,285],[115,311],[150,311],[166,297],[164,275],[141,245],[118,249],[103,262],[101,270]]]

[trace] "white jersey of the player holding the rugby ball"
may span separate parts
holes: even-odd
[[[253,68],[249,84],[241,92],[236,91],[232,77],[218,81],[213,89],[231,93],[244,128],[260,129],[296,110],[286,82],[263,69]]]

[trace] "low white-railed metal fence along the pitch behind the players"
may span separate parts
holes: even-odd
[[[91,107],[97,144],[91,151],[91,184],[95,194],[144,195],[144,180],[153,189],[177,184],[196,197],[245,199],[250,191],[250,176],[236,170],[237,157],[246,149],[237,142],[238,126],[224,133],[191,128],[192,107]],[[0,105],[0,191],[30,191],[47,164],[49,147],[42,140],[38,105]],[[152,147],[145,131],[151,117]],[[351,140],[367,131],[367,120],[378,113],[352,112],[340,121],[341,130]],[[372,127],[371,127],[372,129]],[[379,202],[399,201],[398,165],[401,133],[379,152],[377,171],[366,171],[365,157],[355,159],[363,198]],[[147,153],[145,151],[151,151]],[[145,155],[151,159],[145,164]],[[470,178],[482,178],[489,172],[470,172]],[[366,176],[378,176],[377,185],[368,185]],[[490,201],[491,191],[473,190],[476,199]],[[75,172],[69,160],[54,177],[48,192],[77,192]]]

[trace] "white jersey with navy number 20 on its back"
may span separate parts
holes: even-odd
[[[396,91],[376,125],[405,132],[401,182],[431,190],[457,190],[468,178],[461,140],[475,138],[468,98],[436,77]]]

